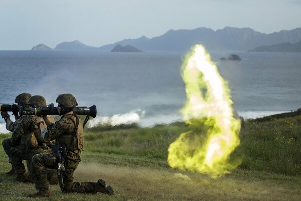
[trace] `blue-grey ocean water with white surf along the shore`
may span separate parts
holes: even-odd
[[[220,61],[230,53],[241,61]],[[152,126],[182,120],[186,101],[181,65],[185,53],[0,51],[0,104],[22,92],[47,104],[72,93],[80,106],[97,106],[99,122]],[[244,118],[301,108],[301,54],[211,52],[231,89],[233,108]],[[0,133],[5,132],[0,120]]]

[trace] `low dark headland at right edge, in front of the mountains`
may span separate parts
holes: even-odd
[[[301,41],[298,43],[281,43],[269,46],[256,47],[250,52],[301,52]]]

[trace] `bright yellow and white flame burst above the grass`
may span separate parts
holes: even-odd
[[[191,131],[170,145],[168,162],[173,168],[222,176],[239,164],[229,161],[240,131],[230,90],[201,45],[186,56],[182,73],[187,94],[182,113]]]

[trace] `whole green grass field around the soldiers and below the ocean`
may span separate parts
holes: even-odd
[[[189,129],[181,122],[87,129],[75,180],[102,178],[115,194],[63,194],[55,185],[50,186],[51,197],[41,200],[301,200],[300,116],[247,121],[241,145],[231,156],[242,163],[217,179],[169,167],[170,143]],[[7,137],[2,134],[0,140]],[[29,200],[34,184],[5,175],[10,164],[2,147],[0,162],[0,200]]]

